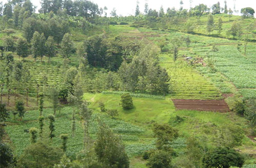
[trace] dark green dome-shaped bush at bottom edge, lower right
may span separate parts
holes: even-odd
[[[242,167],[244,157],[233,149],[227,147],[217,147],[206,152],[203,157],[205,167]]]

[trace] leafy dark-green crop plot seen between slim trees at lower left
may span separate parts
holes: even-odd
[[[61,113],[56,114],[54,122],[55,137],[52,139],[52,143],[55,146],[60,146],[61,139],[59,138],[59,135],[62,133],[69,134],[66,154],[75,159],[76,154],[83,148],[83,128],[82,123],[80,122],[80,117],[76,115],[75,136],[72,137],[72,111],[73,107],[65,107],[61,110]],[[52,113],[53,110],[51,108],[44,109],[43,116],[47,118],[47,115]],[[30,144],[30,134],[25,130],[31,127],[39,127],[37,121],[38,116],[38,110],[32,110],[25,114],[23,121],[13,119],[8,120],[6,131],[16,155],[22,154],[24,149]],[[98,118],[101,118],[106,125],[122,138],[129,156],[141,154],[144,150],[154,148],[154,138],[145,137],[145,129],[142,127],[129,124],[122,120],[111,119],[108,116],[99,113],[93,114],[89,126],[89,133],[93,139],[96,139],[96,133],[98,131]],[[45,138],[48,138],[49,136],[48,126],[49,121],[46,119],[44,126]]]

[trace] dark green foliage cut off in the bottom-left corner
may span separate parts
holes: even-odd
[[[15,163],[15,157],[11,148],[2,142],[0,143],[0,160],[1,167],[9,167]]]

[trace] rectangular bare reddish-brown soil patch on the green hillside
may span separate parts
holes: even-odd
[[[185,100],[172,99],[176,109],[190,109],[200,111],[229,111],[227,103],[221,100]]]

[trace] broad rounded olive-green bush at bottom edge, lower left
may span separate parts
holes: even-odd
[[[19,167],[52,167],[59,163],[62,151],[49,145],[47,142],[38,141],[29,145],[18,159]]]

